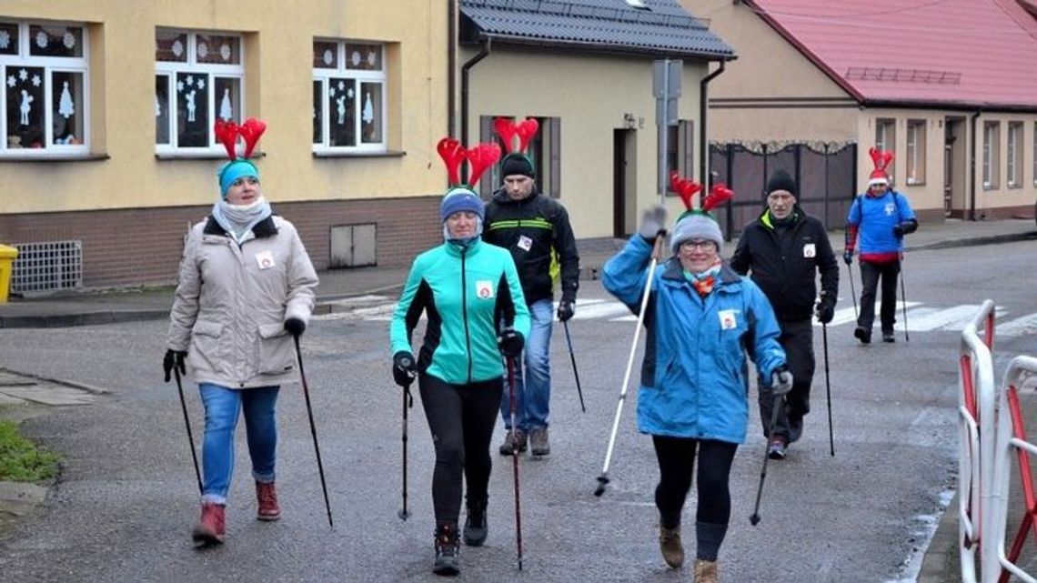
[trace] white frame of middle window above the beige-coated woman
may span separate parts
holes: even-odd
[[[208,108],[208,127],[205,131],[208,134],[208,145],[207,146],[180,146],[177,144],[178,136],[176,134],[176,111],[175,109],[169,112],[167,117],[169,118],[169,143],[160,144],[158,143],[159,137],[155,137],[155,151],[159,155],[222,155],[226,156],[227,150],[220,144],[216,135],[213,132],[213,126],[216,122],[218,115],[217,101],[219,98],[216,95],[216,90],[214,88],[213,78],[229,78],[237,79],[239,85],[241,87],[241,107],[237,112],[237,119],[246,119],[245,115],[245,104],[246,104],[246,87],[245,87],[245,35],[240,32],[229,32],[222,30],[196,30],[196,29],[185,29],[185,28],[172,28],[172,27],[159,27],[156,29],[155,33],[158,35],[159,32],[175,32],[185,33],[188,35],[187,51],[188,58],[184,62],[172,62],[172,61],[155,61],[155,76],[156,78],[160,76],[166,76],[168,86],[166,87],[166,94],[170,95],[169,104],[172,107],[178,108],[179,100],[173,98],[176,94],[176,75],[179,73],[194,74],[194,75],[205,75],[207,87],[211,89],[207,93],[207,100],[205,107]],[[197,49],[197,38],[198,35],[220,35],[220,36],[233,36],[237,38],[240,58],[237,64],[219,64],[219,63],[199,63],[198,62],[198,49]],[[169,105],[167,104],[167,106]]]

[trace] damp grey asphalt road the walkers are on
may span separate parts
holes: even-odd
[[[906,265],[908,301],[950,309],[985,298],[1005,318],[1037,312],[1020,274],[1037,269],[1032,243],[919,251]],[[839,307],[852,306],[846,270]],[[853,274],[860,293],[860,274]],[[598,282],[582,298],[607,300]],[[898,318],[901,314],[898,312]],[[910,325],[912,312],[908,312]],[[0,539],[5,581],[433,581],[432,448],[420,404],[410,422],[410,508],[400,507],[400,399],[389,370],[387,322],[314,322],[303,339],[335,528],[329,529],[299,386],[279,400],[280,522],[254,520],[244,427],[239,429],[228,539],[199,552],[194,471],[175,386],[162,383],[165,324],[5,330],[0,366],[103,387],[94,405],[63,408],[26,431],[65,454],[45,508]],[[835,456],[829,454],[820,328],[813,413],[789,459],[767,469],[750,526],[764,440],[755,411],[732,471],[732,517],[721,551],[726,581],[913,580],[954,488],[959,333],[902,334],[861,346],[851,325],[829,328]],[[515,565],[509,459],[495,456],[489,538],[463,549],[464,581],[685,581],[657,548],[650,439],[636,431],[636,389],[624,407],[610,476],[600,473],[634,325],[573,321],[587,413],[580,412],[562,330],[553,343],[555,392],[548,460],[522,459],[524,571]],[[877,334],[876,334],[877,338]],[[1005,354],[1035,354],[1032,335],[999,339]],[[196,438],[196,390],[185,387]],[[755,388],[750,397],[755,404]],[[753,407],[755,409],[755,405]],[[503,435],[498,427],[493,447]],[[694,490],[684,522],[694,523]],[[689,528],[685,547],[694,549]]]

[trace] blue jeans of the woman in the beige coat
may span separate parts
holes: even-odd
[[[202,440],[202,501],[227,503],[230,477],[234,473],[234,428],[239,412],[245,411],[245,429],[256,481],[274,481],[277,450],[275,405],[280,387],[228,389],[211,383],[198,385],[205,406],[205,437]]]

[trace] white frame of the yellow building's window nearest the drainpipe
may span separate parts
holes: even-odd
[[[313,67],[313,76],[310,80],[310,89],[307,93],[312,95],[313,88],[312,84],[314,82],[320,83],[320,136],[319,142],[312,141],[311,145],[314,154],[384,154],[388,151],[388,140],[389,140],[389,63],[386,55],[387,44],[376,40],[358,40],[358,39],[347,39],[347,38],[326,38],[326,37],[315,37],[310,44],[310,52],[312,53],[313,43],[335,43],[336,51],[338,56],[336,59],[336,68],[318,68]],[[346,45],[369,45],[377,46],[382,50],[382,70],[381,71],[365,71],[365,70],[355,70],[346,68],[345,66],[345,46]],[[328,100],[325,99],[328,94],[328,83],[332,78],[351,78],[356,82],[356,90],[360,91],[361,83],[381,83],[382,84],[382,103],[380,111],[382,112],[382,141],[381,142],[367,142],[363,141],[361,137],[362,122],[361,119],[361,109],[363,108],[362,99],[357,99],[354,104],[357,108],[353,118],[356,124],[355,135],[357,136],[357,144],[352,146],[332,146],[329,145],[331,140],[331,129],[329,123],[331,122],[331,107],[329,106]],[[312,96],[311,96],[311,107],[312,107]]]

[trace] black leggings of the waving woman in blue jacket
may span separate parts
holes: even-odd
[[[696,487],[699,505],[695,518],[700,523],[727,525],[731,519],[731,492],[728,480],[737,444],[714,440],[696,440],[652,436],[660,479],[655,487],[655,506],[666,528],[680,525],[680,511],[692,487],[695,453],[698,449],[699,475]]]

